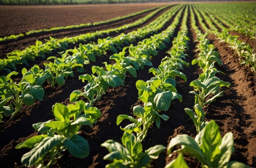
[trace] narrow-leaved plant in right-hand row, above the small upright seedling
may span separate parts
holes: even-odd
[[[216,98],[221,97],[224,91],[220,92],[220,87],[229,87],[229,82],[224,82],[215,76],[216,73],[220,71],[213,68],[213,64],[210,69],[199,75],[199,79],[194,80],[190,83],[190,86],[194,87],[195,91],[189,93],[195,94],[195,104],[199,104],[201,107],[209,104],[216,100]],[[205,100],[209,95],[213,95],[212,98]]]

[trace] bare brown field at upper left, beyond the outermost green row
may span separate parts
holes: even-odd
[[[0,35],[108,20],[163,4],[0,5]]]

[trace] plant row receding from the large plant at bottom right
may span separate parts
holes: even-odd
[[[206,121],[204,119],[206,113],[203,108],[205,105],[212,103],[216,98],[221,97],[224,91],[220,92],[220,87],[228,87],[230,83],[224,82],[215,76],[220,72],[214,68],[214,63],[222,64],[218,52],[215,47],[209,43],[206,34],[203,34],[195,23],[195,18],[191,15],[192,27],[197,33],[198,41],[198,58],[192,61],[198,63],[202,68],[203,73],[199,75],[197,80],[190,83],[195,94],[194,111],[192,109],[184,109],[186,113],[193,120],[197,135],[195,139],[189,135],[177,135],[171,139],[167,147],[167,153],[171,154],[173,147],[180,145],[181,148],[173,151],[173,153],[180,153],[176,159],[171,161],[165,168],[189,168],[183,158],[186,153],[191,157],[195,157],[204,168],[249,168],[249,166],[238,161],[229,161],[232,153],[234,153],[234,138],[231,132],[228,132],[222,138],[220,135],[219,126],[214,120]],[[209,65],[206,66],[205,65]],[[212,98],[207,99],[209,95]]]

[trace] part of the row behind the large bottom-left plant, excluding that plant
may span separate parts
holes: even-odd
[[[180,15],[181,11],[175,18],[179,18]],[[115,60],[116,63],[111,65],[105,62],[106,70],[104,70],[103,67],[93,66],[92,73],[96,73],[97,76],[93,74],[79,76],[79,79],[83,80],[83,82],[88,81],[88,84],[83,88],[83,92],[74,90],[70,94],[70,101],[74,102],[80,96],[83,96],[88,99],[90,105],[93,105],[110,86],[116,87],[124,85],[126,72],[136,77],[136,70],[139,70],[139,68],[143,69],[145,65],[152,66],[150,57],[157,55],[157,50],[164,49],[166,47],[164,43],[170,42],[169,37],[171,37],[174,31],[173,26],[177,25],[177,23],[178,20],[176,19],[176,22],[169,27],[171,31],[167,29],[167,31],[163,31],[162,33],[140,41],[137,46],[129,46],[128,57],[125,57],[126,47],[123,48],[122,52],[110,56],[110,59]]]

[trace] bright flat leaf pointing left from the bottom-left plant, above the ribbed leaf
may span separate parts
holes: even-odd
[[[48,137],[47,134],[42,135],[36,135],[34,137],[31,137],[24,142],[19,143],[15,146],[16,149],[20,148],[33,148],[37,143],[41,142],[45,137]]]

